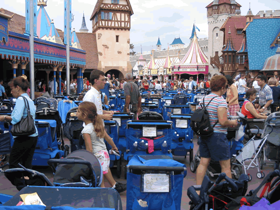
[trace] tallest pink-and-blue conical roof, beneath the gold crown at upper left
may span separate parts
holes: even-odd
[[[51,30],[51,18],[45,10],[45,4],[41,4],[37,11],[37,36],[42,38],[48,36]]]

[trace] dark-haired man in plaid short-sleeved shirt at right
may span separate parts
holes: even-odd
[[[267,78],[264,75],[259,75],[257,77],[258,86],[260,89],[260,106],[258,108],[259,112],[264,112],[266,109],[270,109],[269,106],[273,103],[272,89],[266,85]]]

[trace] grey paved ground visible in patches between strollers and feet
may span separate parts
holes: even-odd
[[[197,145],[197,141],[194,140],[194,154],[196,152],[196,150],[198,149],[198,145]],[[190,170],[190,166],[189,166],[189,158],[187,157],[187,159],[184,159],[183,157],[174,157],[175,160],[181,162],[181,163],[185,163],[187,165],[188,168],[188,173],[187,176],[184,178],[184,183],[183,183],[183,193],[182,193],[182,201],[181,201],[181,210],[188,210],[190,209],[189,206],[189,202],[190,199],[187,196],[187,189],[192,186],[195,185],[195,174],[193,174]],[[123,163],[123,172],[124,172],[124,165],[125,163]],[[45,175],[47,175],[47,177],[53,181],[53,174],[52,174],[52,169],[51,168],[34,168],[35,170],[44,173]],[[263,172],[265,173],[265,175],[267,175],[270,171],[273,170],[273,166],[272,165],[266,165],[263,167]],[[114,171],[112,171],[112,173],[114,173]],[[259,184],[262,182],[262,179],[258,179],[256,177],[256,173],[257,173],[257,169],[250,169],[247,173],[250,173],[253,177],[252,181],[249,182],[249,187],[248,187],[248,191],[256,189]],[[122,177],[119,179],[117,178],[117,176],[115,176],[116,181],[120,181],[125,183],[126,180],[124,179],[124,173],[122,173]],[[106,185],[107,187],[109,187],[109,185]],[[16,189],[16,187],[14,187],[3,174],[0,174],[0,193],[4,193],[4,194],[10,194],[10,195],[15,195],[18,192],[18,190]],[[121,193],[121,197],[122,197],[122,203],[123,203],[123,209],[126,209],[126,191]],[[261,192],[258,193],[258,195],[260,195]]]

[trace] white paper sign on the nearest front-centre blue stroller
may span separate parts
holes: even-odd
[[[144,174],[143,192],[169,192],[169,176]]]

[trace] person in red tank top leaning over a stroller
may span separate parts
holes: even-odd
[[[256,93],[257,90],[255,88],[250,88],[246,91],[245,97],[247,100],[243,103],[241,113],[247,116],[248,119],[266,119],[267,116],[259,114],[252,104],[252,102],[256,99]]]

